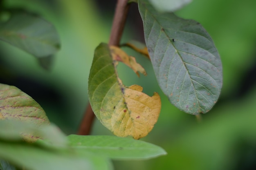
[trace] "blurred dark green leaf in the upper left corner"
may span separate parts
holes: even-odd
[[[54,26],[25,12],[12,13],[7,22],[0,24],[0,40],[39,58],[52,55],[60,48]]]

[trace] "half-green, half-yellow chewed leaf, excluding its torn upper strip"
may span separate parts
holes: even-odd
[[[142,93],[142,87],[126,87],[117,76],[108,44],[101,43],[94,53],[89,75],[89,100],[101,123],[120,137],[145,137],[156,123],[161,100]]]

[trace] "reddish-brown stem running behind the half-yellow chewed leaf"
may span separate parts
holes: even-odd
[[[128,4],[128,0],[117,0],[117,7],[115,10],[112,29],[110,33],[110,40],[108,42],[109,45],[119,46],[121,36],[124,31],[124,25],[126,22],[129,7],[130,4]],[[84,117],[81,121],[79,130],[77,132],[78,135],[90,134],[94,117],[95,115],[89,102],[87,109],[85,110]]]

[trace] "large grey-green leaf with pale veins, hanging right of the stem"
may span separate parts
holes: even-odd
[[[186,113],[208,112],[222,87],[222,64],[209,34],[198,22],[173,13],[159,14],[147,0],[139,1],[139,12],[164,94]]]

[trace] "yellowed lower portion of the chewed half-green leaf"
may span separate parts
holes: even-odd
[[[134,139],[148,135],[161,110],[158,93],[150,97],[142,93],[141,86],[132,85],[124,88],[120,101],[112,115],[112,132],[117,136],[132,136]]]

